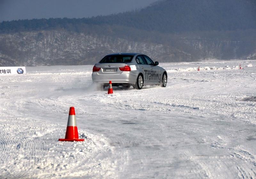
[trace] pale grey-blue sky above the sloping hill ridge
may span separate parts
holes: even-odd
[[[0,0],[0,22],[18,19],[83,18],[131,11],[157,0]]]

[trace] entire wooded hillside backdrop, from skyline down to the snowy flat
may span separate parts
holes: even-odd
[[[162,0],[108,16],[4,21],[0,66],[93,64],[119,51],[160,62],[252,59],[255,17],[255,0]]]

